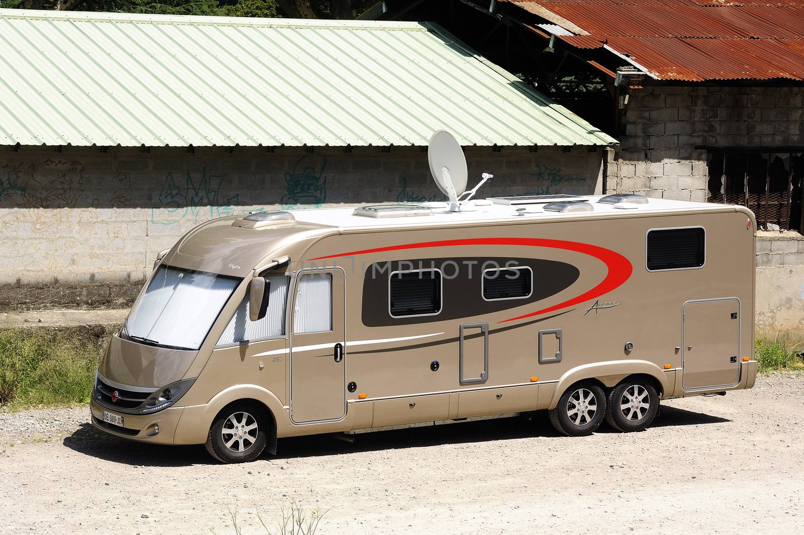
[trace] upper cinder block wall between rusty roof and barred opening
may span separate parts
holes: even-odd
[[[707,152],[695,147],[804,145],[802,98],[799,87],[634,90],[606,188],[704,201]]]

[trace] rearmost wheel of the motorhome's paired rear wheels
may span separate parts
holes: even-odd
[[[609,392],[605,421],[617,431],[642,431],[658,414],[658,393],[647,382],[626,381]]]

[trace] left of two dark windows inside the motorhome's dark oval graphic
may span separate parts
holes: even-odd
[[[396,272],[388,282],[392,317],[434,316],[441,312],[441,272]]]

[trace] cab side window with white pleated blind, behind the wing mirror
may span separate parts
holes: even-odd
[[[284,336],[285,304],[288,300],[290,277],[270,276],[267,278],[271,282],[271,289],[265,317],[257,321],[248,319],[248,293],[246,293],[216,345],[232,345],[242,341]]]

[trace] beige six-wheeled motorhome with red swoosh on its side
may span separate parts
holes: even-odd
[[[431,157],[443,205],[189,231],[111,338],[92,423],[243,462],[282,437],[535,410],[565,435],[640,431],[662,399],[753,386],[750,210],[632,194],[466,201],[466,164],[449,165]]]

